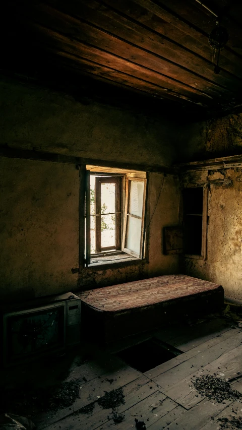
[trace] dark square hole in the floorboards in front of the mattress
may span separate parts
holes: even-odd
[[[151,338],[130,346],[117,355],[131,367],[144,373],[180,354],[183,354],[183,351],[159,339]]]

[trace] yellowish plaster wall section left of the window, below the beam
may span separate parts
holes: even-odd
[[[74,165],[0,158],[2,299],[76,288],[79,171]]]

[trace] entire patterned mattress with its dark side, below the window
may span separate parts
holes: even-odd
[[[216,312],[224,302],[221,285],[187,275],[166,275],[83,291],[83,327],[89,336],[125,337]]]

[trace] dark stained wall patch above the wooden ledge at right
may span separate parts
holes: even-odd
[[[184,145],[177,146],[177,162],[240,154],[242,113],[184,125],[180,140]]]

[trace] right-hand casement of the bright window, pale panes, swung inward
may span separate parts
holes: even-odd
[[[122,251],[143,258],[146,179],[127,177]]]

